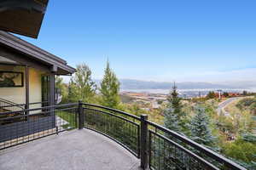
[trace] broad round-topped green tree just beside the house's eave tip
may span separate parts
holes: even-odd
[[[91,103],[96,95],[96,84],[91,79],[90,68],[85,64],[77,65],[77,71],[69,84],[70,100]]]

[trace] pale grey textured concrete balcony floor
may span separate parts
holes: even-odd
[[[139,160],[111,139],[87,129],[0,151],[1,170],[138,170]]]

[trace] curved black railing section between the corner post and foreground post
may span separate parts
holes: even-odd
[[[140,157],[139,117],[99,105],[83,104],[84,127],[103,133]]]

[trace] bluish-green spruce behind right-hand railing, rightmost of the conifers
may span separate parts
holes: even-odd
[[[191,120],[191,137],[199,144],[212,145],[214,138],[210,128],[210,120],[205,110],[198,106],[195,116]]]

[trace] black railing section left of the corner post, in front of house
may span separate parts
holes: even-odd
[[[78,104],[53,105],[23,111],[37,113],[0,118],[0,150],[78,127]],[[15,113],[20,111],[5,112],[2,115]]]

